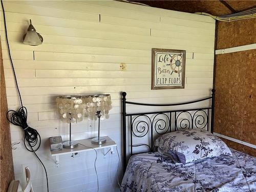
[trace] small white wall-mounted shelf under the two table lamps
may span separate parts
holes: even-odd
[[[55,163],[56,167],[59,167],[59,156],[60,155],[66,155],[66,154],[73,154],[73,153],[80,153],[80,152],[87,152],[92,150],[99,150],[104,148],[110,148],[109,151],[111,151],[111,154],[114,154],[114,146],[116,146],[115,141],[113,141],[108,136],[104,136],[106,138],[106,142],[101,145],[96,145],[91,143],[91,139],[82,139],[82,140],[76,140],[78,143],[78,147],[76,148],[63,148],[62,151],[54,151],[51,152],[52,156],[55,157]],[[83,146],[86,145],[86,146]],[[108,151],[108,152],[109,152]]]

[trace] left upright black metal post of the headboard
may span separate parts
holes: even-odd
[[[123,174],[126,170],[126,92],[122,92],[122,115],[123,115]]]

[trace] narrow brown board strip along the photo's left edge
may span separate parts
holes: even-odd
[[[3,68],[2,49],[0,44],[0,96],[1,96],[1,127],[0,127],[0,191],[6,191],[11,180],[14,179],[13,163],[12,163],[12,149],[11,149],[11,135],[9,122],[6,119],[7,99],[5,91],[5,75]]]

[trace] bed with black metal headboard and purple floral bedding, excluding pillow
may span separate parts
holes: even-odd
[[[121,191],[256,191],[255,157],[230,148],[232,156],[220,155],[177,164],[158,152],[154,145],[159,136],[179,130],[202,129],[213,133],[215,90],[211,97],[175,104],[130,102],[126,101],[125,92],[122,96],[124,177]],[[204,101],[209,101],[209,105],[181,107]],[[160,106],[164,110],[127,113],[127,104]]]

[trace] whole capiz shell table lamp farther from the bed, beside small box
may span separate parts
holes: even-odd
[[[78,146],[76,141],[71,140],[71,123],[80,122],[82,120],[81,96],[58,96],[56,98],[58,113],[62,121],[69,123],[69,141],[63,142],[64,148],[75,148]]]

